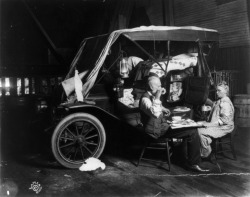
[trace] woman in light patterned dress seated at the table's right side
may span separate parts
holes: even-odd
[[[216,87],[219,98],[213,103],[208,122],[203,122],[205,128],[199,128],[201,140],[201,157],[208,157],[212,151],[211,138],[220,138],[234,129],[234,106],[228,97],[229,87],[225,81]]]

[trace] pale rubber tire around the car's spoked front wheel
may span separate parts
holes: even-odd
[[[97,151],[93,155],[91,155],[90,157],[99,158],[101,156],[101,154],[104,150],[105,144],[106,144],[105,129],[104,129],[102,123],[95,116],[88,114],[88,113],[73,113],[73,114],[66,116],[56,126],[56,128],[53,132],[53,135],[52,135],[52,139],[51,139],[51,147],[52,147],[52,152],[53,152],[55,159],[62,166],[66,167],[66,168],[73,168],[73,169],[79,168],[83,162],[72,163],[72,162],[66,161],[60,155],[60,152],[59,152],[58,147],[57,147],[58,136],[61,134],[62,128],[65,128],[66,125],[70,125],[71,123],[73,123],[75,121],[79,121],[79,120],[84,120],[86,122],[90,122],[91,124],[93,124],[97,128],[97,130],[99,132],[99,137],[100,137],[99,147],[98,147]]]

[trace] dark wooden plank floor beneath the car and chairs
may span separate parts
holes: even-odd
[[[146,162],[136,167],[137,157],[127,154],[103,154],[106,169],[94,172],[61,168],[53,158],[38,153],[2,157],[1,192],[6,195],[6,184],[11,183],[17,196],[33,196],[36,193],[29,188],[36,181],[42,186],[40,196],[250,196],[250,129],[239,129],[235,141],[238,160],[219,159],[222,173],[209,162],[202,163],[212,170],[206,174],[177,164],[172,164],[171,172],[167,166]]]

